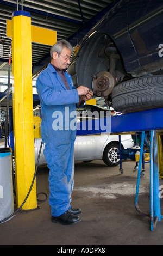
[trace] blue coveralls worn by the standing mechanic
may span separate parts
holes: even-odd
[[[45,147],[43,154],[49,168],[49,204],[52,216],[60,216],[71,208],[73,190],[76,129],[68,127],[71,121],[74,123],[74,117],[73,114],[72,118],[68,117],[67,113],[68,110],[69,113],[76,111],[79,95],[77,89],[73,89],[71,76],[67,72],[65,75],[70,90],[66,89],[51,64],[48,64],[36,81],[42,112],[41,137]],[[65,120],[68,120],[68,125]]]

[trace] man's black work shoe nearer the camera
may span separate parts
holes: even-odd
[[[61,214],[58,217],[52,216],[53,222],[60,222],[63,225],[73,225],[80,221],[79,216],[74,216],[69,211],[64,212],[64,214]]]

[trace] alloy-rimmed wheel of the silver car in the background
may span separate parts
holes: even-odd
[[[106,146],[103,154],[103,161],[107,166],[117,166],[120,163],[120,154],[118,153],[117,144]]]

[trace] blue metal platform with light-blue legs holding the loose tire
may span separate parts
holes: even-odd
[[[163,108],[150,109],[141,112],[129,113],[118,115],[109,118],[110,129],[106,131],[99,129],[82,129],[81,124],[77,123],[77,135],[96,135],[105,132],[109,134],[123,133],[134,133],[141,132],[141,150],[140,150],[140,160],[139,168],[137,173],[137,185],[136,185],[136,196],[135,196],[135,209],[141,215],[147,215],[150,217],[150,227],[153,231],[156,227],[158,221],[161,221],[161,209],[160,209],[160,190],[159,190],[159,164],[158,164],[158,145],[157,145],[157,132],[163,130]],[[91,121],[91,120],[90,120]],[[89,123],[90,121],[87,121]],[[99,120],[95,120],[95,123]],[[87,126],[85,126],[87,127]],[[98,127],[98,125],[95,125]],[[150,132],[150,213],[142,212],[138,206],[139,198],[139,185],[141,177],[141,164],[143,155],[143,141],[145,138],[145,132]]]

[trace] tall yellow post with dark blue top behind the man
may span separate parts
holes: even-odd
[[[12,17],[12,76],[16,203],[19,208],[35,172],[31,19],[26,11],[15,11]],[[36,208],[34,182],[22,210]]]

